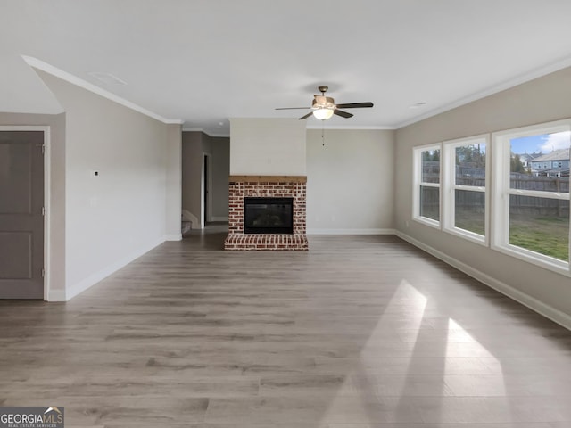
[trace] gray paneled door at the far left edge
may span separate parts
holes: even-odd
[[[44,299],[43,144],[0,131],[0,299]]]

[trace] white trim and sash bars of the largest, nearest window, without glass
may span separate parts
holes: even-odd
[[[552,134],[571,129],[571,119],[557,120],[530,127],[516,128],[492,133],[492,169],[494,180],[492,185],[492,215],[491,248],[517,259],[522,259],[542,268],[571,276],[571,263],[568,261],[545,256],[538,252],[528,251],[509,243],[509,196],[523,194],[549,199],[569,201],[569,193],[552,193],[532,190],[511,189],[509,186],[509,158],[511,156],[509,140],[521,136]],[[507,189],[507,191],[506,191]],[[571,246],[571,226],[569,227],[569,243]]]

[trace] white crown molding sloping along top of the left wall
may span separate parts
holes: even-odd
[[[34,58],[32,56],[21,55],[21,57],[33,69],[45,71],[46,73],[51,74],[52,76],[54,76],[56,78],[61,78],[62,80],[65,80],[66,82],[68,82],[72,85],[82,87],[83,89],[86,89],[89,92],[92,92],[96,95],[103,96],[103,98],[107,98],[108,100],[111,100],[114,103],[118,103],[124,107],[127,107],[128,109],[131,109],[133,111],[137,111],[141,114],[144,114],[145,116],[159,120],[162,123],[165,123],[168,125],[171,125],[171,124],[182,125],[182,123],[183,123],[183,121],[180,119],[163,118],[161,115],[153,113],[153,111],[149,111],[149,110],[145,109],[144,107],[137,105],[136,103],[131,103],[130,101],[128,101],[124,98],[121,98],[118,95],[112,94],[111,92],[106,91],[105,89],[102,89],[99,86],[95,86],[92,83],[89,83],[86,80],[83,80],[82,78],[78,78],[77,76],[74,76],[74,75],[68,73],[67,71],[60,70],[57,67],[54,67],[53,65],[48,64],[47,62],[40,61],[37,58]]]

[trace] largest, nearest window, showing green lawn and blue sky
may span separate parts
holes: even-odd
[[[569,177],[523,168],[525,152],[569,156],[571,121],[494,134],[493,246],[517,257],[569,272]],[[562,153],[562,154],[560,154]],[[551,164],[551,162],[549,162]],[[559,164],[559,161],[558,161]],[[564,176],[564,174],[557,174]]]

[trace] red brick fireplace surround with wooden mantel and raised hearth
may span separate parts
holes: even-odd
[[[305,176],[230,176],[225,250],[307,251]],[[244,198],[293,198],[293,234],[244,234]]]

